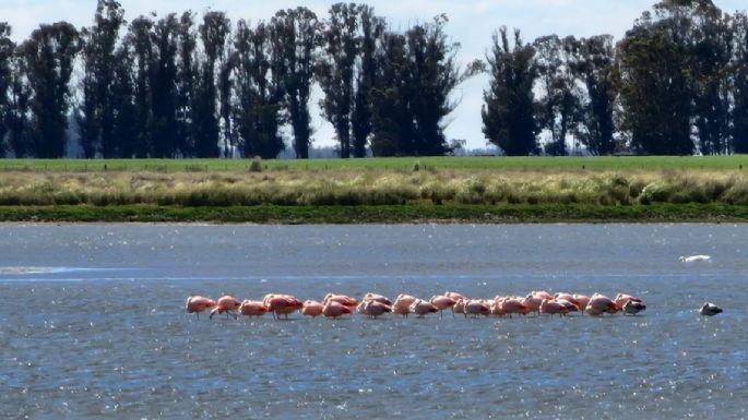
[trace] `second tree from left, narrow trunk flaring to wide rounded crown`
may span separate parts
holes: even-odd
[[[78,29],[67,22],[40,25],[21,49],[34,92],[33,153],[40,158],[62,157],[71,96],[69,82],[80,50]]]

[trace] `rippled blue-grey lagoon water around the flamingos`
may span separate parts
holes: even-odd
[[[0,225],[11,419],[748,418],[747,225]],[[686,267],[681,254],[714,262]],[[641,316],[290,321],[189,295],[626,291]],[[704,319],[704,301],[725,309]]]

